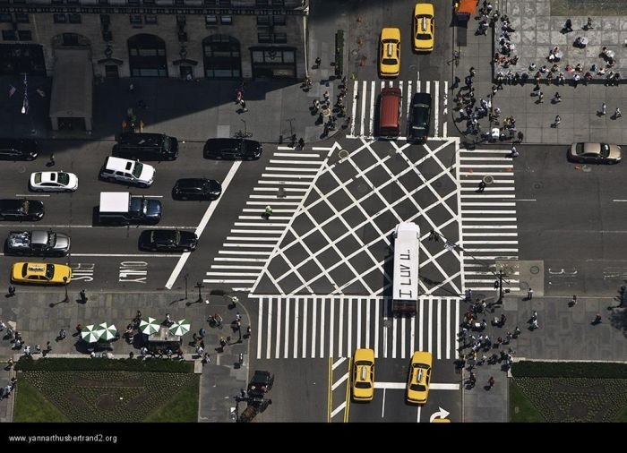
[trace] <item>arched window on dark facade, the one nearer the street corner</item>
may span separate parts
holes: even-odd
[[[239,79],[242,76],[239,41],[227,35],[202,39],[204,75],[207,79]]]

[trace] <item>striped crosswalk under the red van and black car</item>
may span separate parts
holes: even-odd
[[[449,82],[421,81],[417,77],[416,81],[353,81],[353,89],[348,93],[348,97],[352,98],[352,106],[347,106],[347,111],[351,115],[352,122],[347,138],[374,138],[376,129],[374,118],[379,116],[376,112],[377,100],[384,87],[397,87],[402,93],[400,106],[401,136],[399,140],[407,140],[405,134],[407,133],[411,98],[415,93],[420,92],[430,93],[432,97],[432,126],[429,136],[433,138],[446,138],[448,136],[446,119]],[[351,94],[352,96],[350,96]]]

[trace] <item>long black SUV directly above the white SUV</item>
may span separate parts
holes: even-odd
[[[178,140],[165,133],[120,133],[116,141],[116,158],[174,160],[178,156]]]

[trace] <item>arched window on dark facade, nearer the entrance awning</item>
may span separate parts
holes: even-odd
[[[155,35],[128,38],[131,77],[167,77],[166,41]]]

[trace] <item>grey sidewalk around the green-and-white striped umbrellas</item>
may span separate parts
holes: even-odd
[[[246,327],[250,325],[250,316],[242,303],[238,303],[236,308],[228,307],[228,301],[220,295],[210,295],[210,303],[203,301],[197,303],[193,298],[189,304],[181,299],[176,293],[164,294],[130,294],[130,293],[94,293],[88,294],[89,300],[85,304],[77,303],[73,300],[69,303],[57,304],[50,307],[50,303],[57,303],[63,299],[61,292],[26,292],[18,288],[17,295],[5,298],[2,308],[0,308],[0,319],[5,324],[9,321],[15,323],[16,329],[23,338],[24,345],[30,345],[31,351],[35,350],[35,345],[39,344],[42,349],[46,348],[46,342],[50,341],[52,351],[50,356],[67,356],[82,354],[76,349],[78,337],[76,325],[81,323],[86,326],[91,323],[107,321],[116,325],[118,332],[122,335],[126,325],[132,322],[135,313],[140,310],[143,319],[152,316],[157,321],[163,321],[169,313],[172,320],[185,319],[191,324],[191,330],[185,335],[183,352],[185,359],[193,359],[198,362],[200,359],[195,355],[195,348],[189,342],[192,341],[193,332],[199,329],[206,329],[203,338],[205,351],[210,353],[210,363],[200,365],[202,370],[201,389],[199,401],[199,421],[201,422],[229,422],[231,408],[235,406],[235,395],[239,390],[246,388],[248,380],[249,363],[249,338],[242,338],[238,342],[237,330],[231,329],[230,323],[236,318],[236,312],[242,315],[242,327],[245,337]],[[78,297],[76,297],[78,299]],[[240,301],[245,302],[245,296],[240,295]],[[246,303],[246,302],[245,302]],[[206,322],[209,315],[219,313],[223,318],[223,326],[220,329],[211,328]],[[67,338],[56,340],[59,329],[67,331]],[[21,350],[13,349],[12,339],[6,335],[6,330],[0,335],[0,385],[4,386],[10,380],[13,371],[5,369],[6,361],[13,356],[17,358],[22,354]],[[254,335],[254,331],[253,331]],[[228,338],[228,346],[224,352],[219,352],[219,338]],[[128,357],[133,351],[137,357],[140,353],[139,346],[133,346],[126,342],[125,338],[120,338],[113,343],[112,351],[116,357]],[[239,354],[244,355],[244,363],[240,366]],[[160,360],[167,360],[166,358]],[[19,388],[19,383],[18,383]],[[19,391],[19,389],[18,389]],[[12,420],[13,396],[0,401],[0,423]]]

